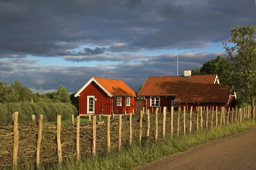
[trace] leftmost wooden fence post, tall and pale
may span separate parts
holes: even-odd
[[[18,157],[18,143],[19,143],[19,130],[18,130],[18,112],[12,114],[13,117],[13,153],[12,153],[12,169],[17,168]]]

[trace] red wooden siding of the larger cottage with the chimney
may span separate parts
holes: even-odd
[[[150,107],[150,97],[147,96],[145,97],[145,99],[147,100],[147,109],[149,109],[149,112],[152,113],[155,113],[156,111],[156,107]],[[143,107],[145,108],[145,99],[143,99]],[[172,100],[175,99],[175,96],[160,96],[160,110],[161,112],[163,112],[163,107],[167,107],[167,112],[170,112],[171,111],[171,107],[172,107]],[[178,107],[181,107],[181,111],[183,111],[183,106],[188,106],[188,110],[190,111],[190,107],[193,106],[193,111],[196,111],[196,107],[198,106],[202,106],[204,107],[205,106],[205,109],[206,109],[206,106],[208,106],[208,109],[210,109],[211,106],[214,106],[214,108],[216,106],[218,106],[218,110],[221,109],[221,106],[224,106],[225,109],[227,109],[227,103],[180,103],[178,104]],[[174,111],[177,111],[178,110],[178,107],[174,108]],[[229,107],[233,107],[232,105],[232,97],[230,99],[230,103],[229,103]],[[145,108],[146,109],[146,108]],[[216,109],[215,109],[216,110]]]

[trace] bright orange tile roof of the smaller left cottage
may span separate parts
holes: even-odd
[[[132,96],[135,97],[135,91],[133,91],[122,80],[105,79],[99,77],[93,77],[103,88],[106,89],[112,96]]]

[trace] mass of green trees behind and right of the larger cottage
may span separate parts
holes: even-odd
[[[237,26],[230,29],[231,38],[223,42],[227,56],[218,56],[206,62],[192,74],[218,74],[221,83],[236,92],[239,105],[250,104],[255,108],[256,98],[256,27]],[[234,46],[230,47],[229,43]],[[255,109],[252,109],[252,116]]]

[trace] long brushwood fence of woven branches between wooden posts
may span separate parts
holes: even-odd
[[[61,163],[63,158],[86,157],[91,154],[110,152],[130,147],[133,143],[157,141],[166,134],[186,135],[201,128],[214,128],[230,123],[243,122],[251,118],[251,107],[228,108],[217,111],[217,108],[192,112],[185,110],[166,113],[119,115],[102,124],[96,123],[96,115],[92,122],[80,125],[77,116],[76,125],[61,126],[61,115],[57,116],[56,125],[43,123],[43,115],[35,121],[18,123],[18,113],[13,114],[13,124],[0,126],[0,169],[30,165],[39,169],[42,163]],[[145,142],[145,141],[144,141]]]

